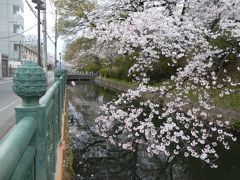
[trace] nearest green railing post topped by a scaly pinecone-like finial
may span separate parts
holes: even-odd
[[[45,73],[37,64],[27,61],[16,71],[13,82],[14,92],[22,98],[22,104],[15,107],[16,123],[25,116],[31,116],[38,122],[30,143],[36,148],[34,179],[47,180],[46,107],[39,104],[40,97],[47,90]]]

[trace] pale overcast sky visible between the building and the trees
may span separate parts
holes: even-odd
[[[31,0],[27,0],[27,1],[37,12],[37,10],[35,9],[36,4],[32,3]],[[31,9],[28,7],[26,1],[23,0],[23,2],[24,2],[24,30],[26,31],[37,24],[37,18],[31,11]],[[42,13],[41,13],[41,18],[42,18]],[[53,41],[55,41],[54,24],[55,24],[54,6],[50,3],[49,0],[47,0],[47,32]],[[25,33],[25,35],[29,35],[29,34],[37,36],[37,26],[35,26],[34,28],[32,28],[31,30]],[[42,34],[41,34],[41,38],[42,38]],[[54,44],[49,40],[49,38],[48,38],[47,46],[48,46],[48,53],[54,55]],[[61,52],[62,49],[63,49],[63,41],[59,38],[58,53]]]

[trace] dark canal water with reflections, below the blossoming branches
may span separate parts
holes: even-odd
[[[240,145],[222,152],[219,168],[205,167],[198,160],[149,158],[138,147],[130,152],[108,143],[94,131],[99,107],[116,96],[95,84],[69,87],[70,132],[74,154],[73,179],[99,180],[240,180]]]

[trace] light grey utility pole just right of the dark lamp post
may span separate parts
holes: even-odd
[[[47,78],[47,4],[43,0],[45,10],[43,10],[42,32],[43,32],[43,70]]]

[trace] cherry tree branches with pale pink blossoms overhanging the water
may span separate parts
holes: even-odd
[[[183,154],[217,167],[216,147],[229,149],[236,138],[222,114],[212,116],[209,91],[223,97],[240,85],[224,68],[231,56],[240,70],[240,1],[122,0],[97,6],[89,19],[96,27],[88,38],[116,42],[119,54],[139,52],[129,69],[139,86],[102,107],[96,119],[101,135],[124,149],[142,145],[150,156]],[[219,39],[228,46],[213,43]],[[152,87],[147,71],[161,56],[177,70],[170,81]],[[149,93],[155,100],[144,98]]]

